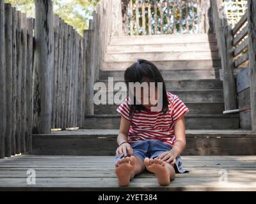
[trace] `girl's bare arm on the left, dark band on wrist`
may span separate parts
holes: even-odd
[[[129,152],[130,155],[132,155],[133,153],[131,145],[127,143],[130,126],[131,126],[131,121],[125,119],[125,117],[122,116],[119,133],[117,136],[117,143],[119,147],[116,149],[116,155],[121,155],[121,156],[124,155],[126,157],[127,151]]]

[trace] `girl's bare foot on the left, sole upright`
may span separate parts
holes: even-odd
[[[116,166],[116,176],[118,179],[119,186],[128,186],[131,179],[131,172],[135,168],[136,159],[134,156],[125,157],[115,164]]]

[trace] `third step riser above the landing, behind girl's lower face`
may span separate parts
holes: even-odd
[[[123,89],[124,90],[124,89]],[[107,101],[108,97],[113,98],[115,94],[122,94],[124,98],[127,98],[127,91],[103,91],[102,89],[99,91],[95,91],[95,93],[100,93],[100,101]],[[202,102],[224,102],[223,100],[223,90],[168,90],[172,94],[179,96],[182,101],[186,101],[186,103],[202,103]]]

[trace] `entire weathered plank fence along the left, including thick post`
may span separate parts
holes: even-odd
[[[82,127],[93,113],[104,16],[94,12],[79,36],[53,15],[51,0],[35,3],[33,19],[0,0],[0,158],[31,152],[32,133]]]

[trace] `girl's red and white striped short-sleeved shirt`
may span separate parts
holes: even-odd
[[[167,97],[169,109],[164,115],[162,111],[141,110],[134,112],[130,119],[130,99],[125,99],[117,108],[118,113],[131,121],[128,134],[129,143],[141,140],[160,140],[170,145],[175,143],[174,122],[186,115],[189,109],[175,94],[167,92]]]

